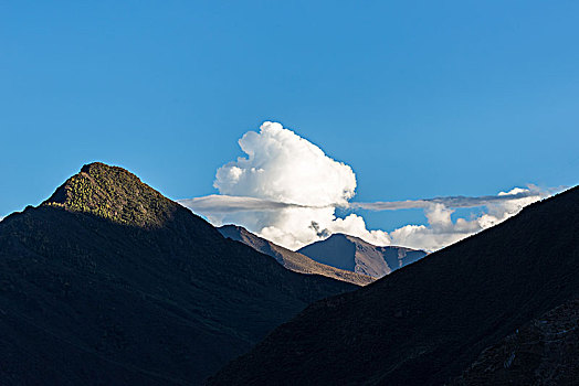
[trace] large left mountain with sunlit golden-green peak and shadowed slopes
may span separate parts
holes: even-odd
[[[0,223],[0,384],[191,385],[316,299],[124,169],[92,163]]]

